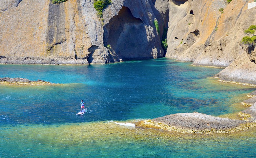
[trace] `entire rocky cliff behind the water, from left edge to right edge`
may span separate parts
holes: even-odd
[[[256,25],[250,2],[112,0],[99,18],[93,0],[0,0],[0,63],[90,64],[166,56],[227,67],[216,77],[256,84],[255,50],[241,43],[244,30]],[[165,38],[167,50],[161,46]]]

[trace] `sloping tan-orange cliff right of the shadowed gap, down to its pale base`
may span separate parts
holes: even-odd
[[[256,7],[247,9],[250,2],[170,1],[166,57],[194,65],[229,66],[218,74],[221,79],[256,84],[255,54],[241,44],[244,30],[256,25]]]

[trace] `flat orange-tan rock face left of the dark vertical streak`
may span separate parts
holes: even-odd
[[[0,12],[0,56],[44,56],[48,3],[23,0]]]

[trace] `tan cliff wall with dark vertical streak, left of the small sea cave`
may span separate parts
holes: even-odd
[[[22,0],[17,7],[1,11],[1,62],[88,64],[75,60],[84,59],[91,46],[77,2],[53,5],[49,0]]]

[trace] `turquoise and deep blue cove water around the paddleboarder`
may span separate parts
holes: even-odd
[[[0,86],[0,157],[253,157],[255,130],[187,135],[119,126],[180,112],[239,112],[252,87],[222,69],[172,59],[108,65],[0,65],[0,77],[59,83]],[[88,113],[76,115],[83,99]],[[238,104],[237,104],[238,103]]]

